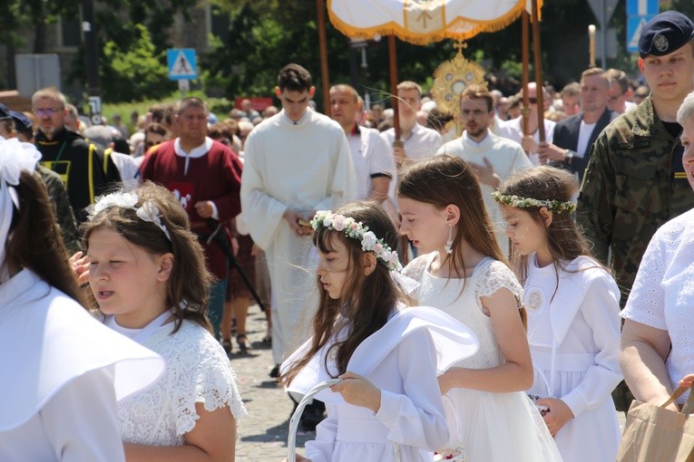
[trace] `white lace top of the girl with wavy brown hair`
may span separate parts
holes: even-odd
[[[124,441],[152,446],[180,446],[199,418],[195,404],[212,411],[229,406],[234,418],[246,415],[236,375],[220,342],[203,327],[185,321],[171,334],[165,325],[143,344],[166,360],[167,370],[156,384],[119,403]]]

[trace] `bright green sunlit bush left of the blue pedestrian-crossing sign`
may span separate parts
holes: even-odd
[[[100,71],[104,101],[137,101],[143,96],[159,99],[175,89],[162,65],[164,52],[157,52],[147,28],[134,24],[132,36],[125,49],[113,40],[103,46]]]

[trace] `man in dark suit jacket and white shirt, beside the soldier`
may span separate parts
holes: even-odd
[[[591,147],[617,113],[607,107],[611,84],[605,71],[593,67],[581,74],[581,112],[557,122],[551,143],[540,144],[540,160],[575,173],[579,180],[588,166]]]

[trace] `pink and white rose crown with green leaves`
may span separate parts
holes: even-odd
[[[397,252],[391,250],[383,239],[376,238],[376,235],[368,230],[361,222],[357,222],[352,217],[345,217],[332,213],[330,210],[318,210],[311,220],[314,230],[320,226],[335,231],[344,231],[345,236],[357,239],[361,242],[361,249],[365,252],[373,252],[376,258],[383,262],[390,271],[401,271],[403,265],[397,259]]]

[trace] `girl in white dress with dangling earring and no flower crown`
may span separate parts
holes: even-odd
[[[406,267],[417,302],[467,325],[480,342],[439,377],[451,438],[439,452],[466,462],[561,460],[524,390],[533,364],[523,328],[523,290],[494,237],[474,173],[436,156],[398,185],[400,233],[425,254]]]

